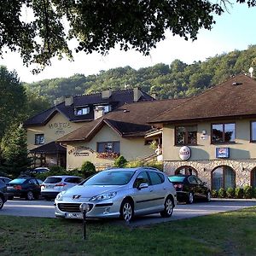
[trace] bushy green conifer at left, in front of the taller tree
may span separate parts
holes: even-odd
[[[2,142],[3,167],[5,172],[17,177],[31,166],[32,160],[27,154],[26,131],[22,125],[5,135]]]

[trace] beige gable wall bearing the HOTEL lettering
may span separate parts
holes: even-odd
[[[70,122],[61,113],[56,113],[55,116],[49,120],[44,126],[34,126],[27,128],[27,148],[37,148],[40,145],[35,145],[35,135],[44,134],[44,144],[54,142],[56,139],[67,135],[67,133],[74,131],[84,125],[84,123]]]

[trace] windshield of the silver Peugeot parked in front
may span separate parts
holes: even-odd
[[[83,185],[125,185],[130,182],[134,172],[108,171],[99,172],[85,180]]]

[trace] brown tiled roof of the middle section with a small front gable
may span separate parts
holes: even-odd
[[[137,102],[124,104],[113,112],[105,114],[83,125],[76,131],[61,137],[58,142],[90,141],[103,125],[108,125],[121,137],[143,137],[151,129],[148,121],[166,109],[174,108],[187,99],[172,99],[153,102]]]

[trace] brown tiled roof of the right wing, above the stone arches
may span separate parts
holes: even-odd
[[[149,123],[256,116],[256,81],[240,74],[160,113]]]

